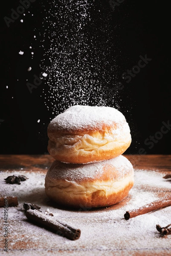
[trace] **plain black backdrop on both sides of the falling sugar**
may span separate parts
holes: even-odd
[[[48,8],[50,1],[44,4]],[[34,29],[36,34],[38,31],[40,35],[43,32],[42,21],[46,8],[36,0],[26,10],[26,17],[20,15],[8,28],[3,18],[11,17],[11,9],[17,9],[19,5],[19,1],[11,0],[3,2],[1,7],[0,154],[44,154],[48,143],[46,129],[52,113],[44,104],[43,82],[31,94],[26,87],[26,79],[32,81],[33,74],[41,72],[39,63],[43,55],[39,41],[34,41],[33,59],[28,49],[35,35]],[[99,15],[99,10],[102,15]],[[119,51],[118,77],[138,63],[139,55],[147,54],[152,59],[129,84],[124,83],[124,89],[119,92],[119,99],[122,99],[119,101],[120,111],[130,125],[133,139],[126,151],[128,154],[138,154],[140,148],[144,148],[147,154],[171,154],[171,131],[163,134],[162,139],[154,143],[151,149],[144,143],[150,135],[160,131],[163,121],[171,120],[169,15],[166,3],[153,0],[125,0],[114,11],[108,0],[93,1],[92,21],[87,28],[87,35],[91,35],[93,29],[98,35],[98,28],[100,35],[103,22],[105,26],[108,22],[109,26],[115,27],[113,40],[116,44],[114,52]],[[24,23],[20,22],[21,18]],[[99,40],[100,44],[99,38],[94,40]],[[21,49],[24,58],[18,54]],[[30,66],[34,73],[28,74]],[[38,119],[41,122],[38,123]]]

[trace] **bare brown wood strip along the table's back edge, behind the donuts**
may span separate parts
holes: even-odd
[[[171,171],[171,155],[127,155],[136,169],[154,169]],[[42,155],[0,155],[0,170],[45,170],[49,168],[54,159],[49,154]]]

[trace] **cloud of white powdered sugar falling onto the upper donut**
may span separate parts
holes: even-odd
[[[114,99],[114,93],[109,93],[117,84],[112,13],[105,12],[106,5],[95,3],[51,0],[45,6],[40,67],[47,76],[42,95],[55,116],[76,104],[119,108],[119,95]]]

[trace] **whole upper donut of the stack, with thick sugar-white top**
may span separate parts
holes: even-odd
[[[75,105],[47,129],[48,151],[65,163],[91,163],[117,157],[130,146],[130,128],[115,108]]]

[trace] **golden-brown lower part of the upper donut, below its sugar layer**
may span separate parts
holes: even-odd
[[[65,163],[89,163],[111,159],[123,154],[131,143],[130,132],[105,130],[89,134],[48,132],[49,154]]]

